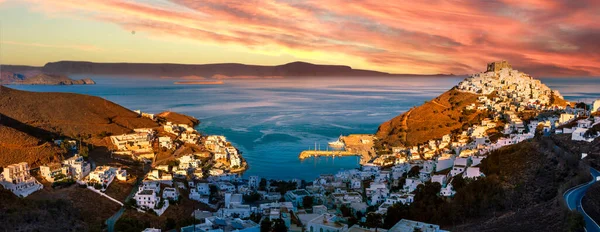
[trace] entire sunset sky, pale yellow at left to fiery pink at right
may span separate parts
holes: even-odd
[[[0,63],[342,64],[600,76],[600,1],[0,0]]]

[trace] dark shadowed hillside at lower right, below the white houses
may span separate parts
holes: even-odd
[[[388,209],[384,226],[407,218],[450,231],[573,231],[576,216],[562,193],[589,180],[589,164],[579,160],[580,152],[598,142],[572,143],[553,135],[503,147],[480,164],[485,178],[453,182],[453,198],[438,195],[439,183],[421,185],[412,204]]]

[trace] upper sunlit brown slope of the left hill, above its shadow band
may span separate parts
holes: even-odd
[[[73,93],[27,92],[0,87],[0,113],[27,125],[66,136],[110,132],[158,124],[108,100]]]

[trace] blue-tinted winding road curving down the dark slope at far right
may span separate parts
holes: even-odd
[[[598,226],[598,223],[596,223],[581,207],[581,199],[583,199],[583,196],[585,196],[588,188],[598,181],[597,178],[600,177],[600,172],[593,168],[590,168],[590,174],[592,175],[592,180],[590,182],[567,190],[563,197],[565,198],[567,206],[570,210],[577,209],[577,211],[583,215],[585,220],[585,229],[587,232],[600,232],[600,226]]]

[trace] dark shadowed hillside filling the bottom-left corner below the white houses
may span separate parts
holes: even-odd
[[[102,231],[104,220],[119,209],[77,185],[45,186],[26,199],[0,189],[0,199],[0,231]]]

